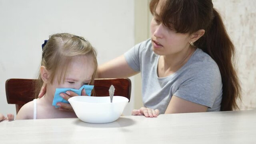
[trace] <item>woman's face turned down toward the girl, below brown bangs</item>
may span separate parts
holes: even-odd
[[[158,14],[161,2],[156,7],[150,26],[153,51],[158,55],[167,56],[188,50],[189,34],[176,33],[160,22]]]

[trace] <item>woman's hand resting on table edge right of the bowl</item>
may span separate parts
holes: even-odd
[[[132,116],[145,116],[145,117],[157,117],[159,115],[159,110],[153,110],[151,108],[141,107],[139,110],[132,110]]]

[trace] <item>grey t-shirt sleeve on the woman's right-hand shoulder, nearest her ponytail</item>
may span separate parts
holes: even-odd
[[[222,94],[222,81],[217,64],[198,62],[186,72],[175,96],[212,108],[215,99]]]

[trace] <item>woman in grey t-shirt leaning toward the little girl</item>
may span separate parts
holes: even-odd
[[[132,114],[224,111],[238,108],[240,85],[232,44],[211,0],[152,0],[151,39],[99,66],[98,78],[141,72],[146,108]],[[74,96],[71,92],[65,98]],[[70,109],[69,104],[61,104]]]

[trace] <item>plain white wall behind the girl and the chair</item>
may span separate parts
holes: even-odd
[[[54,33],[87,38],[102,64],[134,46],[133,0],[0,0],[0,113],[8,78],[36,78],[41,44]],[[133,81],[133,78],[131,78]],[[134,88],[132,88],[133,90]],[[133,93],[124,114],[133,108]]]

